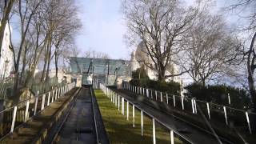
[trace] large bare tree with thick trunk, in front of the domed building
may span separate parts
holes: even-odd
[[[159,81],[174,76],[166,75],[166,67],[184,50],[186,33],[206,3],[198,1],[195,7],[186,8],[176,0],[124,0],[122,5],[126,38],[135,44],[139,40],[146,47],[153,62],[148,67],[158,72]]]

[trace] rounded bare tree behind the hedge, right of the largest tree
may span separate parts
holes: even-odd
[[[189,30],[186,38],[188,49],[180,60],[196,83],[206,86],[214,74],[222,73],[226,62],[233,57],[236,39],[226,28],[220,15],[202,13]]]

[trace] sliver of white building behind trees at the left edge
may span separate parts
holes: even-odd
[[[8,24],[6,24],[8,25]],[[10,30],[6,26],[5,34],[2,41],[1,57],[0,57],[0,77],[9,77],[10,71],[14,66],[13,53],[9,48],[10,46]]]

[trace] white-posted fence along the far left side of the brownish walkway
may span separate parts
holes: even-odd
[[[19,102],[18,105],[11,106],[5,110],[0,111],[1,123],[1,140],[7,134],[13,133],[14,128],[26,122],[30,117],[38,114],[49,106],[51,102],[56,101],[67,91],[74,88],[75,83],[66,84],[44,94],[36,94],[34,98],[26,99]]]

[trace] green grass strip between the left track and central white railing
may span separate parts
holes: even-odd
[[[98,106],[102,114],[106,132],[110,143],[153,143],[152,119],[144,114],[144,134],[141,135],[141,113],[135,108],[135,127],[132,120],[132,106],[129,106],[129,121],[125,115],[121,114],[118,107],[110,102],[110,99],[103,94],[102,90],[95,90]],[[121,102],[121,98],[120,98]],[[166,130],[156,122],[156,142],[170,143],[170,130]],[[174,138],[174,143],[182,143],[178,138]]]

